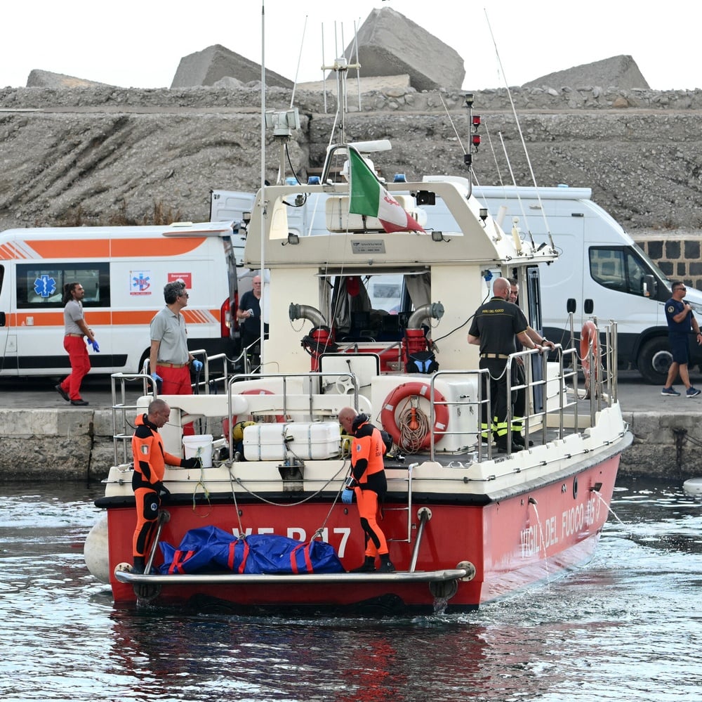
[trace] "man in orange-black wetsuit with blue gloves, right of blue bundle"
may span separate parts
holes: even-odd
[[[352,474],[343,490],[342,500],[350,504],[355,493],[361,526],[366,538],[365,559],[352,573],[373,573],[376,571],[376,557],[380,557],[378,573],[392,573],[395,566],[390,562],[388,542],[378,526],[378,499],[388,490],[385,479],[383,454],[385,442],[380,430],[370,424],[366,415],[357,415],[355,410],[345,407],[339,412],[339,424],[347,434],[354,437],[351,446]]]

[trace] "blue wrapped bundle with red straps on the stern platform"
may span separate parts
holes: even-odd
[[[333,547],[320,540],[296,541],[276,534],[237,538],[216,526],[188,531],[178,548],[159,544],[161,573],[234,572],[258,574],[343,573]]]

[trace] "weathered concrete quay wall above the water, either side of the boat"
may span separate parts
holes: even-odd
[[[695,411],[624,412],[635,438],[621,475],[702,476],[702,404],[685,404]],[[0,482],[99,481],[114,462],[112,410],[0,409],[0,437]]]

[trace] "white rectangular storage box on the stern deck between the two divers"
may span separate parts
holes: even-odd
[[[289,422],[244,427],[244,456],[249,461],[286,458],[322,460],[339,454],[336,422]]]

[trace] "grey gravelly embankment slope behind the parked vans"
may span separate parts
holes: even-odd
[[[327,93],[325,112],[320,86],[309,87],[295,92],[301,128],[287,149],[300,179],[322,167],[336,109]],[[506,89],[474,94],[480,183],[509,183],[511,168],[519,185],[531,185],[533,170],[541,186],[592,188],[632,233],[702,228],[702,91],[515,88],[511,98],[519,128]],[[350,82],[349,101],[350,141],[392,141],[376,158],[386,177],[465,174],[465,92],[386,79],[360,94]],[[267,109],[290,103],[290,90],[267,90]],[[258,188],[260,131],[260,92],[250,84],[0,90],[0,228],[206,220],[211,189]],[[269,181],[278,161],[268,141]]]

